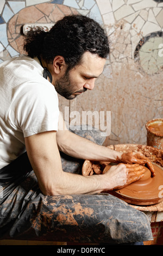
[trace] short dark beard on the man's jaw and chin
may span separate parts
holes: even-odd
[[[74,93],[84,93],[87,89],[78,90],[74,92],[75,84],[71,83],[69,72],[66,72],[64,77],[61,77],[59,80],[55,81],[55,90],[61,96],[65,97],[67,100],[73,100],[78,94],[73,95]]]

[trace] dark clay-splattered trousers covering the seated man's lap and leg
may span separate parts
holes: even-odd
[[[67,164],[72,166],[71,161]],[[146,215],[121,199],[110,194],[44,196],[33,171],[1,183],[0,197],[0,239],[91,243],[153,239]]]

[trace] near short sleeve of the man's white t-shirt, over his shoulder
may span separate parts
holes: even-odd
[[[58,130],[58,95],[49,82],[29,83],[15,95],[9,109],[11,126],[24,137]]]

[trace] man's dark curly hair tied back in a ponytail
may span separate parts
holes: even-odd
[[[70,15],[57,21],[49,32],[41,29],[28,32],[24,50],[28,56],[42,57],[47,63],[53,63],[54,57],[60,55],[71,69],[80,63],[86,51],[106,58],[109,41],[95,20],[83,15]]]

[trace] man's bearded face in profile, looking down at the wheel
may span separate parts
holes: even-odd
[[[55,81],[55,89],[68,100],[74,99],[87,89],[92,90],[96,78],[103,72],[105,61],[97,54],[85,52],[79,65]]]

